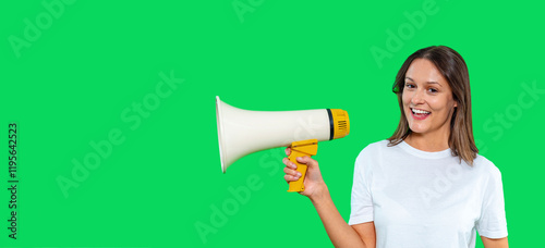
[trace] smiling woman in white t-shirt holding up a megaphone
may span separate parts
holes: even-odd
[[[401,66],[393,92],[401,119],[387,140],[358,156],[347,224],[322,178],[318,162],[304,181],[336,247],[508,247],[499,170],[477,154],[465,62],[455,50],[421,49]],[[289,156],[291,150],[286,149]],[[283,159],[284,178],[296,165]]]

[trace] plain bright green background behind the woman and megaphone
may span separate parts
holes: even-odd
[[[21,182],[17,240],[8,238],[10,195],[0,191],[0,247],[330,247],[311,202],[286,193],[281,148],[221,173],[215,96],[249,110],[347,110],[351,134],[322,142],[315,158],[348,221],[354,159],[392,134],[397,70],[432,45],[468,63],[474,134],[502,173],[510,245],[536,244],[545,221],[544,5],[436,0],[416,27],[403,13],[422,12],[423,2],[241,0],[249,12],[240,18],[231,0],[78,0],[57,5],[31,46],[14,49],[10,37],[24,39],[25,18],[47,24],[49,12],[41,1],[3,1],[0,188],[9,186],[12,122]],[[371,49],[388,50],[388,30],[399,36],[400,27],[405,39],[376,60]],[[136,116],[132,104],[153,97],[161,73],[184,82],[138,125],[122,119]],[[72,160],[116,129],[124,140],[65,197],[59,176],[72,178]],[[232,202],[228,188],[247,178],[261,188],[203,239],[195,225],[211,226],[213,208]]]

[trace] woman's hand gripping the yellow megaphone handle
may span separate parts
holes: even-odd
[[[286,156],[291,154],[291,149],[286,148]],[[307,196],[311,200],[316,200],[327,194],[327,186],[322,178],[322,173],[319,172],[318,162],[314,159],[311,159],[308,156],[296,158],[299,163],[304,163],[307,165],[306,168],[306,176],[304,178],[305,190],[299,194],[303,196]],[[286,175],[283,178],[287,183],[292,181],[298,181],[301,177],[301,173],[296,171],[296,164],[291,162],[288,158],[283,158],[282,160],[286,168],[283,172]]]

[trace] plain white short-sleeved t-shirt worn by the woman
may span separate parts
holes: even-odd
[[[368,145],[355,160],[350,225],[374,221],[377,248],[474,248],[476,233],[507,236],[499,170],[482,156],[473,166],[450,149],[407,142]]]

